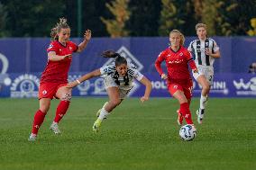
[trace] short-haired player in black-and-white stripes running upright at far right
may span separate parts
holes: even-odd
[[[197,40],[190,42],[188,50],[192,53],[197,64],[199,75],[193,75],[198,84],[202,86],[200,106],[197,110],[197,121],[202,123],[206,109],[206,101],[210,92],[210,86],[214,79],[215,58],[220,58],[220,50],[215,40],[208,38],[207,26],[204,23],[197,23]]]

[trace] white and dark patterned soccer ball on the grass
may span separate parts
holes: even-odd
[[[190,124],[182,126],[179,130],[180,138],[184,139],[185,141],[190,141],[195,139],[196,135],[197,135],[196,128]]]

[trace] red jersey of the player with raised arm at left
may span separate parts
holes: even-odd
[[[78,46],[72,42],[66,42],[66,46],[63,46],[58,40],[54,40],[50,43],[47,52],[55,51],[58,56],[65,56],[77,51]],[[50,61],[48,59],[47,66],[41,74],[41,83],[68,83],[68,72],[72,58],[65,58],[60,61]]]

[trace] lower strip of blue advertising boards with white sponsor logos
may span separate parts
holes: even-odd
[[[69,81],[76,80],[84,73],[69,74]],[[0,97],[31,98],[37,97],[40,74],[9,74],[0,76]],[[151,80],[151,97],[169,97],[167,85],[158,74],[144,74]],[[144,85],[134,82],[129,94],[140,97],[144,94]],[[194,96],[200,96],[201,87],[194,80]],[[73,96],[106,96],[104,78],[96,77],[83,82],[73,89]],[[256,75],[250,74],[215,74],[211,87],[211,97],[256,97]]]

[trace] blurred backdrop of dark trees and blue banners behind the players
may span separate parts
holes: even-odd
[[[92,30],[87,49],[73,56],[69,80],[109,62],[100,58],[114,49],[151,78],[152,95],[169,96],[154,68],[160,51],[168,48],[169,31],[197,38],[197,22],[207,24],[221,58],[215,59],[216,97],[256,96],[256,0],[1,0],[0,97],[36,97],[47,63],[50,29],[60,17],[68,19],[71,40],[79,43]],[[142,94],[136,84],[131,96]],[[195,84],[195,96],[200,93]],[[101,78],[74,90],[77,96],[105,96]]]

